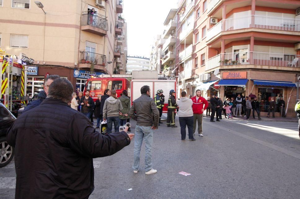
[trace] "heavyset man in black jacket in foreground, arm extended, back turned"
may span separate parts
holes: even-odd
[[[126,130],[96,132],[89,118],[70,107],[72,93],[67,79],[56,79],[47,99],[8,131],[7,142],[15,147],[15,198],[88,198],[94,190],[93,158],[130,144],[134,134]]]

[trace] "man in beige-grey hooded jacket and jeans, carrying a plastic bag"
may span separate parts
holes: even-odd
[[[115,126],[115,133],[119,132],[119,114],[122,109],[116,91],[112,90],[111,96],[105,100],[103,106],[103,121],[107,120],[107,134],[112,133],[112,122]]]

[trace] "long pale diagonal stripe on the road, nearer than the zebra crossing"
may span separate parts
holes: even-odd
[[[286,154],[286,155],[290,155],[290,156],[292,156],[292,157],[294,157],[294,158],[300,159],[300,154],[295,153],[295,152],[290,151],[290,150],[287,150],[287,149],[284,149],[284,148],[282,148],[282,147],[280,147],[280,146],[276,146],[276,145],[274,145],[274,144],[271,144],[271,143],[268,143],[268,142],[259,140],[259,139],[257,139],[257,138],[253,138],[253,137],[251,137],[251,136],[245,135],[245,134],[243,134],[243,133],[237,132],[237,131],[232,130],[232,129],[227,129],[227,128],[223,127],[223,126],[211,124],[211,122],[204,121],[204,123],[206,123],[206,124],[208,124],[208,125],[211,125],[211,126],[214,126],[214,127],[218,128],[218,129],[222,129],[222,130],[224,130],[224,131],[226,131],[226,132],[228,132],[228,133],[233,133],[233,134],[238,135],[238,136],[240,136],[240,137],[242,137],[242,138],[251,140],[251,141],[256,142],[256,143],[258,143],[258,144],[261,144],[261,145],[263,145],[263,146],[267,146],[267,147],[269,147],[269,148],[271,148],[271,149],[277,150],[277,151],[279,151],[279,152],[281,152],[281,153],[284,153],[284,154]]]

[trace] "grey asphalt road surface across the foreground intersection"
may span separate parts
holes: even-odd
[[[133,173],[131,142],[115,155],[94,159],[90,198],[299,198],[297,126],[238,118],[212,123],[204,117],[204,137],[196,132],[196,141],[182,141],[180,128],[167,128],[164,121],[153,140],[157,173],[144,173],[144,145],[140,170]],[[12,162],[0,169],[1,198],[14,197],[14,183]]]

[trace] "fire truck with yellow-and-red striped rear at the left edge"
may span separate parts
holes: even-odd
[[[0,49],[0,99],[15,116],[19,108],[28,103],[25,66],[18,63],[16,58]]]

